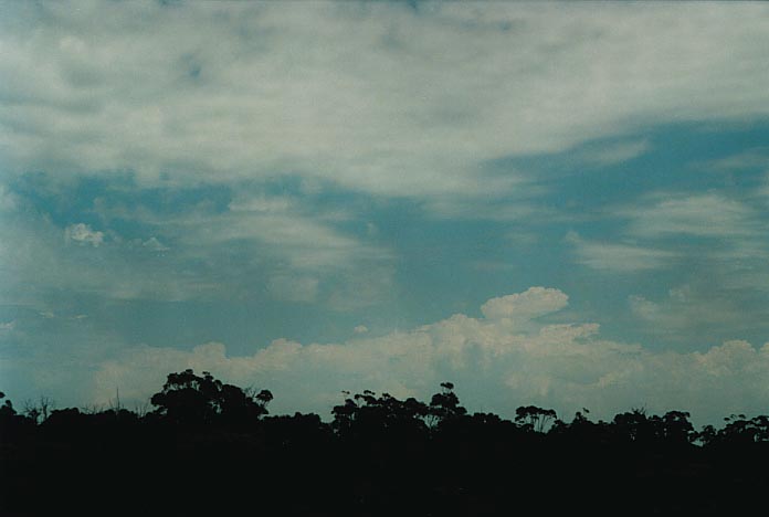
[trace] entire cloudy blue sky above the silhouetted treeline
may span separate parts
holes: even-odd
[[[0,389],[769,412],[769,4],[0,4]]]

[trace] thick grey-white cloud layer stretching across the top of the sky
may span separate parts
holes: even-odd
[[[76,7],[4,10],[9,172],[482,198],[520,188],[487,160],[769,112],[761,4]]]

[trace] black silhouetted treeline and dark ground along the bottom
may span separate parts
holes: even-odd
[[[0,408],[0,515],[767,515],[769,418],[570,422],[468,414],[370,391],[333,420],[268,416],[272,394],[192,370],[151,408]]]

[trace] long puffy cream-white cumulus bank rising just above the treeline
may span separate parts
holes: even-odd
[[[428,398],[443,380],[457,383],[472,410],[506,415],[528,403],[552,407],[567,418],[582,407],[602,418],[641,405],[686,409],[697,422],[765,410],[769,346],[735,340],[705,352],[655,352],[603,340],[597,324],[546,321],[566,305],[560,291],[533,287],[489,299],[483,318],[456,314],[409,331],[340,344],[278,339],[244,357],[228,356],[220,342],[191,350],[134,347],[102,362],[89,389],[95,401],[108,400],[115,387],[140,400],[166,373],[193,368],[273,390],[276,412],[327,415],[343,390]]]

